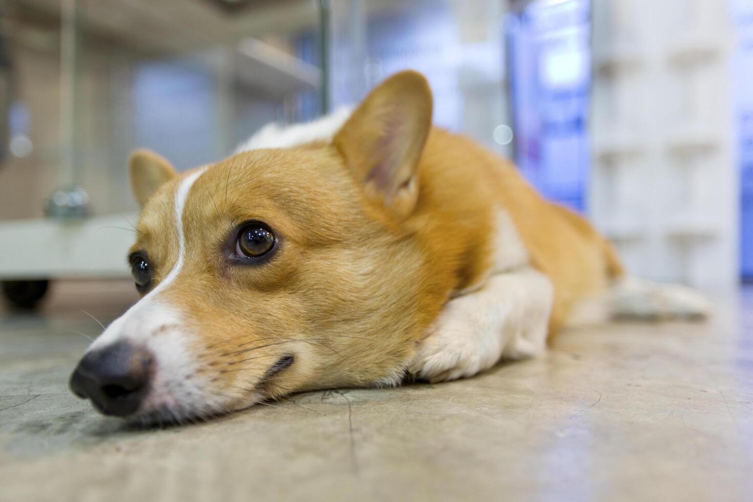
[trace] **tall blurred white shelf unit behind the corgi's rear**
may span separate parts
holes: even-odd
[[[739,274],[734,34],[727,2],[684,3],[592,2],[612,29],[593,31],[590,208],[646,278],[724,290]]]

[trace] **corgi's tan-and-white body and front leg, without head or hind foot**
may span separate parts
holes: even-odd
[[[270,125],[238,152],[328,143],[348,117],[341,109],[305,125]],[[444,312],[411,373],[453,379],[502,356],[540,354],[576,303],[602,298],[621,277],[611,245],[587,221],[541,198],[475,141],[432,127],[418,172],[422,195],[404,225],[425,242],[430,266],[417,280],[441,281],[431,317]]]

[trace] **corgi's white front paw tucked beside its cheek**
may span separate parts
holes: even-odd
[[[457,300],[456,300],[457,301]],[[500,354],[498,335],[488,333],[481,319],[462,303],[442,312],[416,351],[409,373],[431,383],[474,376],[488,370]]]

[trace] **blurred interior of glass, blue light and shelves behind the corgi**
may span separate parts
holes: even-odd
[[[135,298],[133,148],[219,160],[403,68],[437,125],[514,158],[633,272],[753,279],[753,0],[5,0],[6,303],[82,279]]]

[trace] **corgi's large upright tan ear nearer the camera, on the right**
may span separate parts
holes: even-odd
[[[431,90],[416,71],[401,71],[375,87],[334,136],[370,199],[398,218],[418,199],[418,162],[431,128]]]

